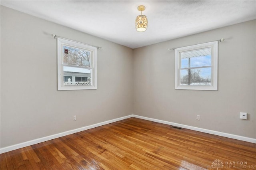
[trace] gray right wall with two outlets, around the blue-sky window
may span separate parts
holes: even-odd
[[[256,138],[255,32],[253,20],[135,49],[134,114]],[[174,51],[167,49],[221,38],[218,91],[175,90]]]

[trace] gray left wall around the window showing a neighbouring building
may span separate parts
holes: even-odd
[[[97,90],[57,91],[52,33],[103,47]],[[1,148],[131,115],[132,59],[128,47],[1,6]]]

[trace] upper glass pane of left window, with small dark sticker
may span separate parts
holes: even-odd
[[[76,65],[82,67],[91,67],[91,52],[63,46],[63,64],[65,65]]]

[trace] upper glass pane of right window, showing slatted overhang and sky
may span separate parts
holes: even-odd
[[[204,67],[212,65],[211,48],[180,53],[180,68]]]

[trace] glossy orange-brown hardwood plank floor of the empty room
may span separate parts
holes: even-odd
[[[256,144],[129,118],[1,156],[1,170],[256,170]]]

